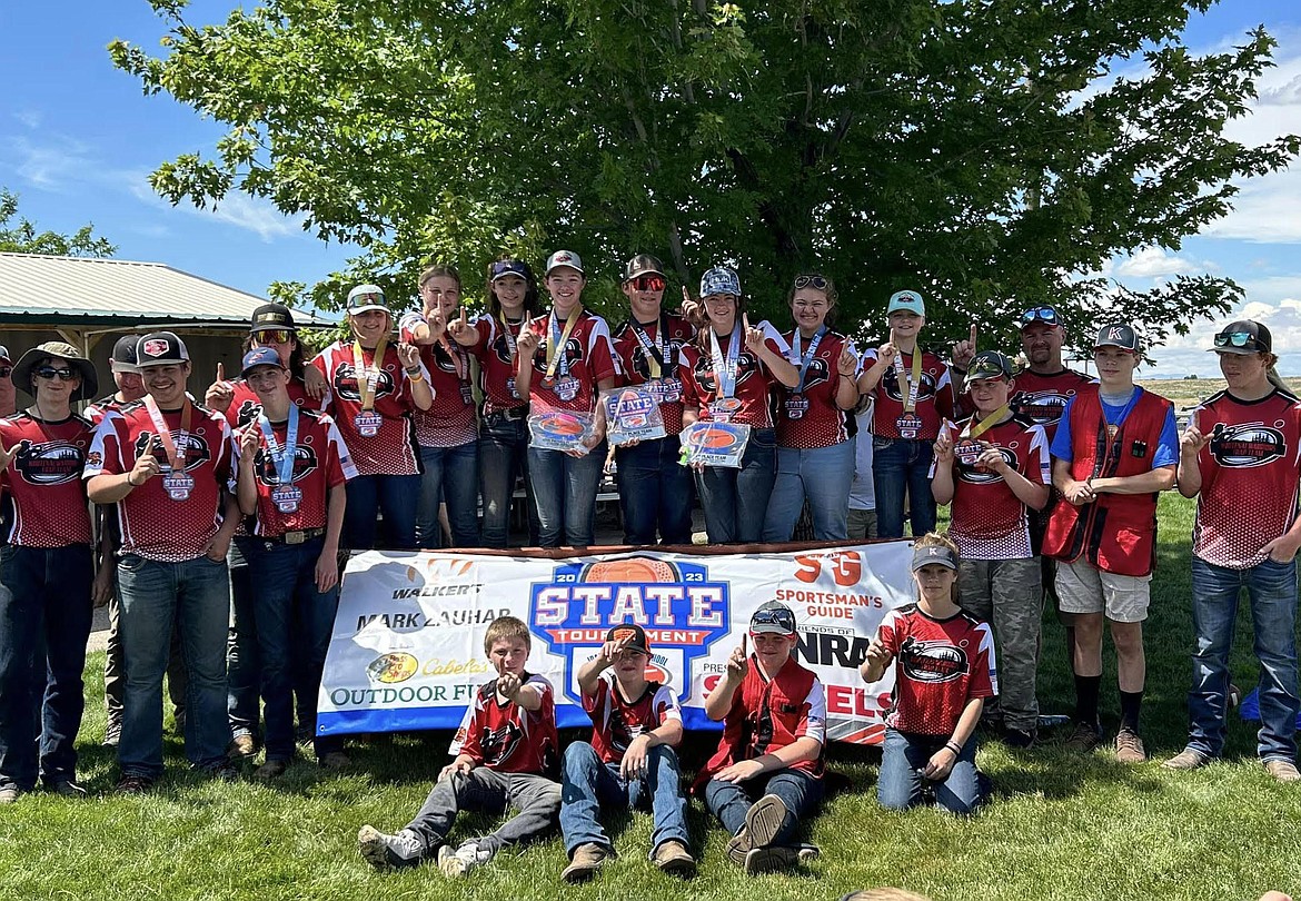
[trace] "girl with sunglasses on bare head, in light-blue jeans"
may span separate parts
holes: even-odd
[[[843,542],[853,484],[859,357],[847,337],[827,327],[837,299],[830,279],[816,272],[796,276],[786,299],[795,328],[782,337],[799,381],[777,389],[777,480],[764,542],[791,540],[805,499],[813,510],[813,538]]]

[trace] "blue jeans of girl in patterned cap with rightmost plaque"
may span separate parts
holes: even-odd
[[[696,473],[710,544],[753,544],[762,536],[777,475],[775,443],[771,428],[752,428],[740,469],[706,466]]]

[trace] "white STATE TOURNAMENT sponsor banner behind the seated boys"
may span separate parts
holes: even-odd
[[[611,625],[650,641],[648,677],[670,685],[688,729],[717,729],[704,699],[751,613],[781,600],[799,622],[796,658],[826,687],[827,737],[879,743],[894,674],[859,677],[886,611],[916,598],[912,542],[775,553],[631,551],[569,557],[474,553],[354,556],[321,680],[320,734],[455,729],[494,677],[484,631],[516,616],[532,631],[528,672],[556,689],[561,728],[591,725],[578,668]]]

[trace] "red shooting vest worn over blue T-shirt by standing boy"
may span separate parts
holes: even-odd
[[[1071,405],[1071,478],[1141,475],[1151,471],[1157,440],[1171,404],[1144,391],[1114,437],[1107,436],[1098,385],[1085,385]],[[1146,575],[1157,566],[1157,493],[1098,495],[1084,506],[1053,508],[1043,553],[1081,556],[1105,573]]]

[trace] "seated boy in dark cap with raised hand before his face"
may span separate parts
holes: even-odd
[[[666,685],[647,680],[650,648],[645,630],[614,626],[601,651],[578,671],[583,710],[592,717],[592,742],[565,749],[561,829],[570,865],[561,876],[591,879],[614,855],[597,822],[605,809],[649,802],[654,814],[650,859],[665,872],[688,878],[696,861],[687,850],[687,799],[682,794],[678,755],[682,708]],[[614,677],[602,673],[613,669]]]

